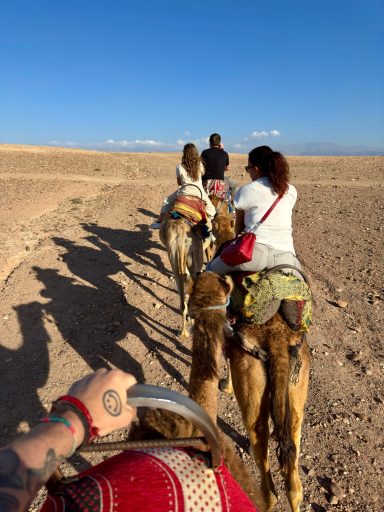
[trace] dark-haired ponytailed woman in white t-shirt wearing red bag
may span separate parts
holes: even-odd
[[[236,235],[242,232],[255,233],[252,260],[230,266],[217,256],[208,264],[207,270],[218,274],[258,272],[280,264],[301,268],[292,238],[292,210],[297,192],[289,184],[289,165],[286,158],[269,146],[259,146],[248,154],[245,170],[252,181],[241,187],[235,195],[235,231]],[[262,221],[275,202],[273,210]]]

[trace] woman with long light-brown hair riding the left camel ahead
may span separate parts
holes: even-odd
[[[186,144],[183,148],[181,163],[176,166],[176,180],[179,188],[164,199],[159,218],[156,222],[151,224],[151,228],[160,228],[163,218],[172,209],[177,196],[182,194],[197,197],[204,201],[207,214],[207,227],[211,230],[212,219],[216,214],[216,209],[204,190],[201,181],[203,174],[204,166],[196,146],[192,143]]]

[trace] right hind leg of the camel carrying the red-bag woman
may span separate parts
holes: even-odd
[[[303,365],[300,370],[299,382],[289,387],[289,405],[292,421],[292,438],[296,446],[296,459],[293,466],[289,469],[285,477],[285,489],[292,512],[300,510],[300,504],[303,501],[303,486],[299,475],[299,454],[301,425],[304,416],[304,405],[307,398],[308,380],[309,380],[309,360],[308,348],[303,346],[300,356]]]

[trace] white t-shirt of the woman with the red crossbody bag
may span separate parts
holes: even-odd
[[[276,198],[271,182],[263,177],[241,187],[235,195],[234,203],[237,210],[244,210],[245,231],[254,232],[258,243],[295,254],[292,210],[296,203],[297,191],[293,185],[289,185],[288,192],[280,199],[267,219],[258,225]]]

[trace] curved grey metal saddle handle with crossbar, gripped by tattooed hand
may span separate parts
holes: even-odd
[[[174,412],[196,426],[204,435],[211,449],[212,466],[218,467],[221,462],[221,448],[216,425],[211,418],[191,398],[176,391],[149,384],[135,384],[127,391],[127,400],[132,407],[149,407]],[[85,446],[82,452],[110,451],[121,449],[138,449],[160,446],[193,446],[201,444],[202,438],[161,439],[153,441],[123,441],[111,443],[92,443]]]

